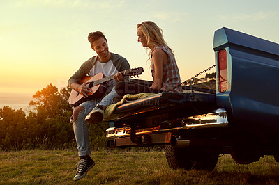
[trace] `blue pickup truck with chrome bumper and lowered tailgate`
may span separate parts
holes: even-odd
[[[213,170],[220,154],[279,162],[279,45],[224,27],[213,50],[216,89],[182,86],[121,104],[105,120],[107,146],[165,145],[172,169]]]

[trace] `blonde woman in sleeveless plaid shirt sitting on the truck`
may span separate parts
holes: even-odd
[[[137,41],[149,51],[151,61],[152,86],[120,81],[115,90],[120,96],[137,93],[160,93],[162,91],[182,92],[179,69],[174,53],[163,38],[163,31],[154,22],[137,24]]]

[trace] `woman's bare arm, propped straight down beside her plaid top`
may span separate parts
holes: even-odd
[[[167,63],[167,54],[161,49],[153,51],[154,77],[153,84],[150,88],[160,89],[163,83],[163,66]]]

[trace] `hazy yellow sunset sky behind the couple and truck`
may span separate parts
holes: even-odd
[[[7,97],[20,102],[19,93],[31,97],[50,83],[66,86],[96,55],[87,40],[92,31],[102,31],[110,51],[127,58],[131,67],[144,67],[140,79],[152,80],[136,26],[156,22],[185,81],[215,64],[217,29],[279,43],[278,7],[278,0],[0,0],[0,108],[3,99],[8,106]]]

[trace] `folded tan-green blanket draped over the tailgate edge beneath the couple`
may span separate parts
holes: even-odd
[[[105,109],[105,118],[110,118],[114,112],[114,110],[120,106],[121,104],[124,104],[127,102],[127,99],[142,99],[144,97],[149,97],[151,95],[154,95],[154,93],[139,93],[139,94],[135,94],[135,95],[124,95],[123,98],[121,99],[121,101],[117,102],[116,104],[111,104],[110,106],[107,106],[107,108]]]

